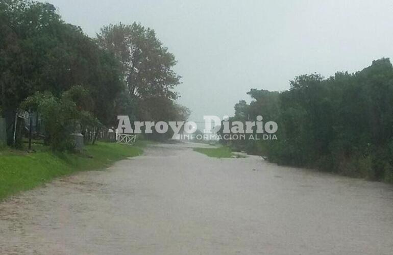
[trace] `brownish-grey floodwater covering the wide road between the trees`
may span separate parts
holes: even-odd
[[[393,187],[155,145],[0,204],[0,254],[393,254]]]

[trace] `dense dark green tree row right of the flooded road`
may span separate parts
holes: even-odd
[[[231,121],[276,121],[277,141],[233,141],[272,162],[393,182],[393,67],[389,59],[356,73],[301,75],[284,92],[253,89]]]

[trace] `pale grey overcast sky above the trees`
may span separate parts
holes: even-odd
[[[95,36],[140,22],[175,54],[179,103],[233,114],[251,88],[282,91],[296,75],[357,71],[393,56],[393,1],[50,0],[63,19]]]

